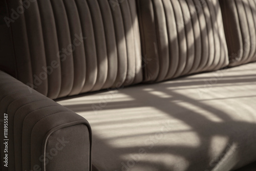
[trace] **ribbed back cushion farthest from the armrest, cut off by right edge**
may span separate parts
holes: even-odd
[[[220,1],[229,66],[256,61],[256,1]]]

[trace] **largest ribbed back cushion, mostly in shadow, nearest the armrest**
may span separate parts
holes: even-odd
[[[40,93],[55,99],[142,81],[135,0],[7,4],[17,78]]]

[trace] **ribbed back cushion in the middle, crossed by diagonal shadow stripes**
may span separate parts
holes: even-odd
[[[228,65],[218,0],[137,2],[144,81],[162,81]]]

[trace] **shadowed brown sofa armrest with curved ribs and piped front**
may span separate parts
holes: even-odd
[[[2,170],[91,170],[86,119],[2,71],[0,80]]]

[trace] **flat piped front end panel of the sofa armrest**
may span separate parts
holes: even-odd
[[[61,150],[54,154],[56,157],[48,159],[49,163],[46,165],[46,170],[86,170],[90,161],[89,158],[86,160],[82,156],[90,154],[90,143],[81,142],[88,142],[89,132],[87,127],[79,124],[73,126],[72,129],[67,127],[56,131],[48,138],[48,143],[53,145],[47,145],[46,152],[52,152],[56,148],[55,144],[59,144],[59,139],[62,138],[59,135],[65,137],[68,146],[75,148],[67,148],[66,144],[66,146],[59,145]],[[74,141],[74,139],[77,139],[77,141]]]

